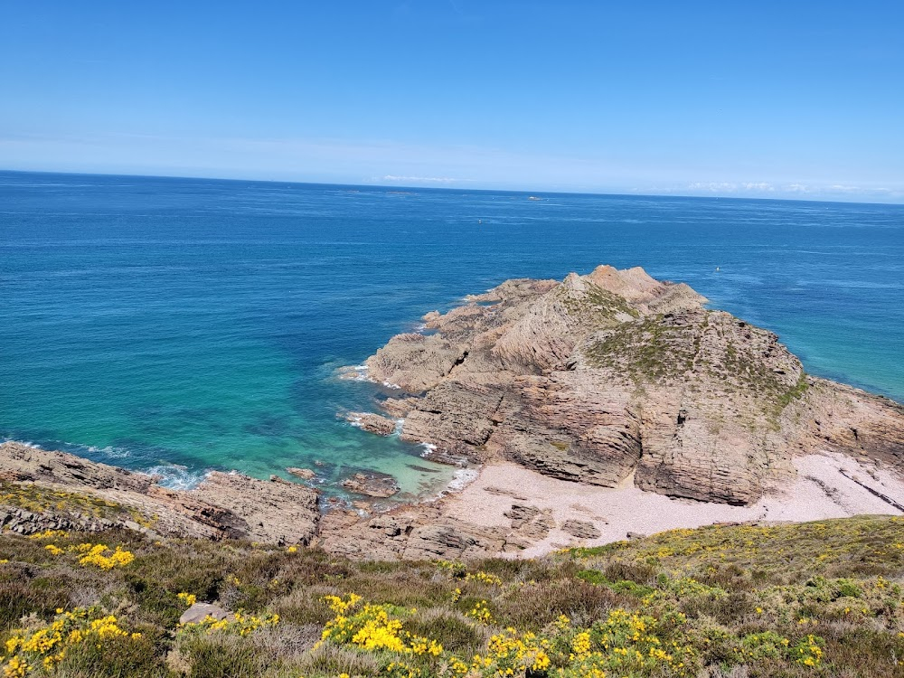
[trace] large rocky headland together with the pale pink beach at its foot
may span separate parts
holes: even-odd
[[[904,407],[807,375],[776,334],[706,301],[600,266],[428,313],[368,376],[402,391],[380,403],[401,438],[480,477],[435,504],[330,513],[318,543],[537,555],[632,530],[901,513]]]

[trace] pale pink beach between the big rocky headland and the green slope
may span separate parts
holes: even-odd
[[[502,462],[485,466],[476,480],[444,503],[447,516],[488,528],[507,528],[504,514],[513,501],[549,515],[555,527],[532,546],[510,553],[533,558],[568,546],[598,546],[626,539],[629,532],[653,534],[713,523],[805,522],[858,514],[902,512],[851,478],[904,504],[904,478],[861,464],[852,457],[824,453],[797,457],[796,481],[756,504],[732,506],[676,499],[638,489],[633,477],[616,488],[557,480],[523,466]],[[844,476],[841,471],[849,476]],[[568,521],[593,523],[597,538],[578,539],[561,529]]]

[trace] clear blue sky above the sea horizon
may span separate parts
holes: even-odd
[[[904,3],[0,0],[0,168],[904,202]]]

